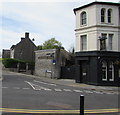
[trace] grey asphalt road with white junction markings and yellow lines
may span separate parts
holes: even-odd
[[[79,115],[80,95],[85,96],[86,114],[118,115],[115,93],[84,90],[13,72],[3,72],[3,77],[3,115]]]

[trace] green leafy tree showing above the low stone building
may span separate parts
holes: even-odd
[[[51,39],[45,41],[43,43],[43,45],[38,46],[38,50],[55,49],[55,48],[63,48],[62,43],[57,41],[55,38],[51,38]]]

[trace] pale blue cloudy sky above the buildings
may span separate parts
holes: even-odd
[[[66,50],[75,44],[73,9],[95,0],[0,0],[0,51],[17,44],[25,32],[36,45],[55,37]],[[100,0],[118,2],[119,0]]]

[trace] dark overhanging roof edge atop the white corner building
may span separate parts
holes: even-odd
[[[80,6],[78,8],[74,8],[73,11],[74,13],[77,11],[77,10],[80,10],[82,8],[86,8],[86,7],[89,7],[91,5],[94,5],[94,4],[102,4],[102,5],[114,5],[114,6],[120,6],[120,2],[100,2],[100,1],[95,1],[95,2],[91,2],[89,4],[86,4],[86,5],[83,5],[83,6]],[[75,13],[76,14],[76,13]]]

